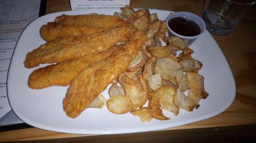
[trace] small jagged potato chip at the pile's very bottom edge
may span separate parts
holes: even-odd
[[[150,114],[150,109],[147,107],[142,107],[136,111],[132,111],[131,114],[134,116],[139,116],[141,122],[150,122],[153,118]]]

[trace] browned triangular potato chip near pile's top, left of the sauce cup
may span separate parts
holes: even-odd
[[[149,15],[148,13],[143,14],[137,20],[135,20],[132,24],[134,27],[138,28],[138,30],[147,30],[149,26]]]

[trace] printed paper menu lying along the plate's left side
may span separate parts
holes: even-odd
[[[0,0],[0,118],[11,110],[6,79],[13,50],[26,25],[38,17],[40,3],[41,0]]]

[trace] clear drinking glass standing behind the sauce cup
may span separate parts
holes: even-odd
[[[211,34],[224,36],[230,34],[254,3],[256,0],[206,1],[209,6],[205,6],[201,17]]]

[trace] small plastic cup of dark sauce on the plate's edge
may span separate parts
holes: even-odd
[[[189,12],[175,12],[166,18],[169,36],[179,36],[188,39],[191,45],[195,39],[204,33],[206,26],[204,20]]]

